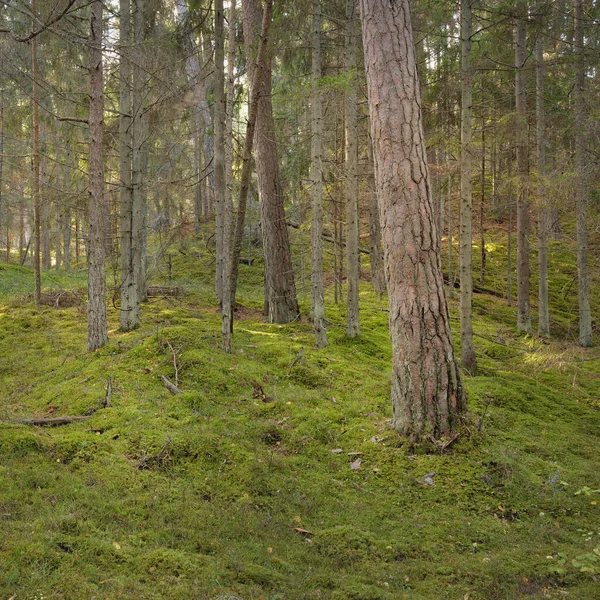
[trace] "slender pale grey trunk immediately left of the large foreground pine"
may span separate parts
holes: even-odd
[[[346,0],[346,72],[351,77],[346,91],[346,336],[360,335],[358,317],[358,284],[360,254],[358,252],[358,118],[356,110],[356,0]]]

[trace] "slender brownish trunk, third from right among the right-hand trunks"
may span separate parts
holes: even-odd
[[[527,2],[517,0],[515,95],[517,127],[517,329],[531,333],[529,308],[529,165],[527,148]]]

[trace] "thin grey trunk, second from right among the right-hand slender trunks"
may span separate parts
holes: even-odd
[[[536,59],[536,147],[538,168],[538,265],[539,265],[539,315],[540,337],[550,337],[550,312],[548,306],[548,229],[550,216],[546,199],[546,108],[544,106],[544,36],[538,33],[535,46]]]

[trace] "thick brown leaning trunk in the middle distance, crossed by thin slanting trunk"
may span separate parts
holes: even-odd
[[[265,295],[271,323],[289,323],[299,315],[296,285],[285,222],[283,192],[279,180],[279,163],[275,142],[275,125],[271,104],[271,66],[266,60],[254,76],[254,56],[262,11],[258,0],[242,2],[244,40],[250,81],[258,89],[256,121],[256,170],[258,174],[261,231],[265,260]]]

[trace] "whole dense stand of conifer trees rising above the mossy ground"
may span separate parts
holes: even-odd
[[[532,332],[533,304],[543,337],[549,240],[573,238],[593,344],[599,19],[591,0],[2,2],[0,251],[33,265],[37,302],[41,270],[87,265],[90,351],[107,284],[135,329],[182,236],[214,252],[227,352],[244,244],[261,248],[269,321],[298,319],[300,295],[320,348],[329,286],[360,335],[368,272],[389,296],[395,426],[445,433],[465,406],[446,293],[458,275],[473,374],[490,221],[515,325]]]

